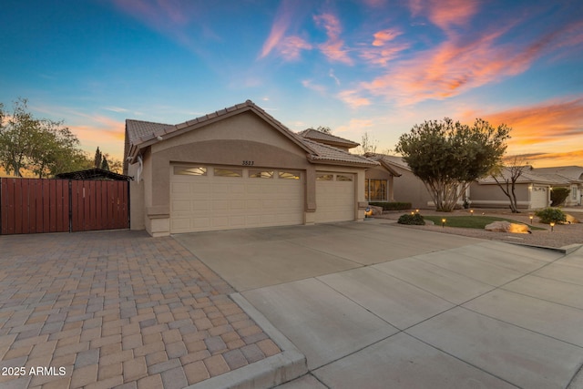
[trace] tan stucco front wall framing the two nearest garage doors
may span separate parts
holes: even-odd
[[[363,220],[359,202],[364,201],[364,169],[310,163],[305,149],[251,111],[181,131],[144,153],[143,181],[136,183],[141,189],[135,193],[143,200],[140,207],[132,207],[132,229],[143,227],[152,236],[169,234],[169,180],[174,163],[300,170],[304,177],[304,222],[308,224],[313,222],[316,210],[316,170],[353,173],[354,215],[356,220]],[[137,164],[129,167],[130,171],[136,169]]]

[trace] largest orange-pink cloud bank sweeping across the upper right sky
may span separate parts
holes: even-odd
[[[509,28],[509,27],[506,27]],[[455,97],[466,90],[496,82],[526,71],[539,57],[567,45],[583,41],[583,24],[561,26],[527,43],[499,44],[507,31],[496,28],[483,36],[470,39],[450,36],[444,43],[418,52],[359,89],[363,95],[385,97],[399,105],[412,105],[426,99]],[[394,48],[398,52],[398,47]],[[394,52],[387,53],[392,56]],[[363,57],[386,64],[384,55],[364,51]]]

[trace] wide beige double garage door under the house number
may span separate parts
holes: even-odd
[[[302,224],[300,171],[173,166],[170,232]]]

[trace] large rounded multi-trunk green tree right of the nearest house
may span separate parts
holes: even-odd
[[[435,209],[452,211],[470,183],[499,164],[510,130],[480,118],[471,127],[451,118],[429,120],[402,135],[395,151],[424,182]]]

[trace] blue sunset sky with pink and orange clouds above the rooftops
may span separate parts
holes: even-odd
[[[583,166],[581,0],[7,0],[0,102],[26,97],[121,159],[126,118],[253,100],[377,151],[427,119],[514,128],[509,154]]]

